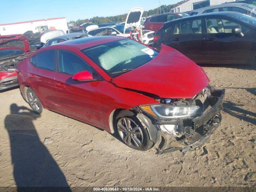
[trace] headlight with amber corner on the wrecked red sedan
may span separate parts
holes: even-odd
[[[140,108],[155,117],[161,118],[185,118],[192,116],[197,110],[198,106],[171,106],[164,104],[144,105]]]

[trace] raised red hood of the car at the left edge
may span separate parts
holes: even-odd
[[[28,39],[21,34],[0,36],[0,50],[18,49],[27,53],[30,51]]]

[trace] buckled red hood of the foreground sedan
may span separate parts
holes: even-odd
[[[161,47],[150,62],[113,78],[116,86],[161,98],[192,98],[209,84],[200,66],[174,48]]]

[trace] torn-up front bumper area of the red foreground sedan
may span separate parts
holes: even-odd
[[[180,150],[181,152],[192,151],[201,146],[211,134],[216,130],[221,122],[220,110],[224,101],[225,90],[212,90],[212,96],[208,98],[211,103],[211,108],[202,115],[195,118],[177,119],[170,121],[151,119],[138,116],[146,127],[154,126],[157,132],[148,129],[150,138],[157,147],[157,154],[173,152]],[[170,132],[163,131],[160,127],[166,124],[172,124],[178,127],[179,134],[174,136]]]

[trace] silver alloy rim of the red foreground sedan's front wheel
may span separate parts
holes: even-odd
[[[117,130],[125,144],[131,148],[139,148],[143,142],[142,129],[131,118],[120,118]]]

